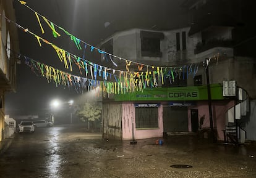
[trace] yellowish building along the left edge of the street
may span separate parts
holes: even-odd
[[[0,1],[0,141],[4,139],[4,95],[15,91],[19,40],[12,1]]]

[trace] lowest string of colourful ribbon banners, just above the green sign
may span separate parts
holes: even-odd
[[[30,67],[33,73],[36,75],[43,76],[47,79],[48,83],[53,82],[56,87],[60,85],[64,85],[67,87],[74,87],[75,91],[82,93],[83,91],[91,91],[92,89],[99,88],[100,91],[103,92],[103,95],[106,94],[126,94],[128,92],[140,91],[143,92],[143,89],[148,87],[148,83],[150,83],[151,87],[155,84],[157,86],[157,82],[153,81],[153,75],[156,73],[150,73],[145,76],[140,76],[141,79],[129,78],[128,76],[121,77],[121,81],[116,79],[116,81],[106,81],[106,80],[96,80],[83,78],[81,76],[72,75],[70,73],[66,73],[64,71],[58,70],[57,68],[51,67],[44,63],[40,63],[36,60],[30,59],[29,57],[24,56],[25,65]],[[158,74],[157,74],[158,75]],[[163,72],[165,78],[166,72]],[[174,75],[174,74],[169,74]],[[105,77],[103,77],[104,79]],[[116,76],[114,76],[116,78]],[[146,80],[146,78],[150,78],[150,82]],[[163,78],[163,77],[162,77]],[[144,82],[143,82],[144,81]],[[164,80],[165,81],[165,80]]]

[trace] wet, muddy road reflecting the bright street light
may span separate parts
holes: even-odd
[[[17,134],[0,155],[0,177],[256,177],[256,147],[210,144],[196,136],[102,140],[82,126],[38,128]],[[192,168],[171,168],[188,164]]]

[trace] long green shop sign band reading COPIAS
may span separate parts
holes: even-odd
[[[222,100],[223,86],[211,84],[211,99]],[[114,95],[116,101],[169,101],[169,100],[207,100],[207,86],[156,87],[143,92],[130,92]]]

